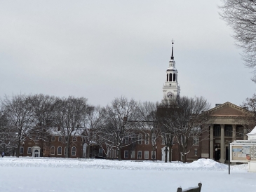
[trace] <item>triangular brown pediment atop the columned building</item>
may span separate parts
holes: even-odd
[[[232,104],[230,102],[225,102],[224,104],[220,104],[209,111],[210,116],[245,116],[248,114],[248,110],[243,107],[239,107],[236,104]]]

